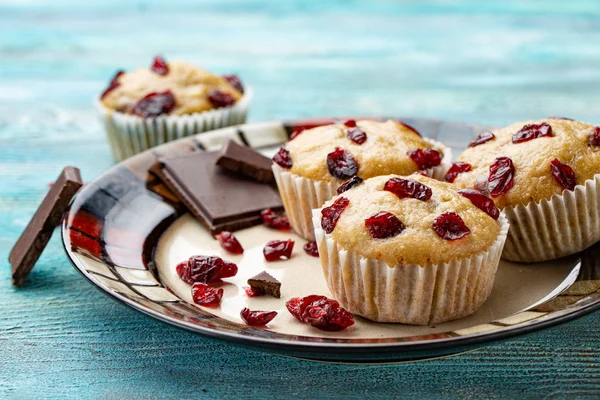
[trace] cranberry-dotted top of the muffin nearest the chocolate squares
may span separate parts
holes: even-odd
[[[355,175],[409,175],[439,165],[442,157],[408,125],[348,120],[292,136],[273,161],[293,174],[339,183]]]

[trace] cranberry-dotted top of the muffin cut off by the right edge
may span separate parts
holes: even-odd
[[[600,173],[600,127],[562,118],[518,122],[471,142],[448,181],[489,192],[500,208],[548,200]],[[452,172],[452,169],[451,171]]]

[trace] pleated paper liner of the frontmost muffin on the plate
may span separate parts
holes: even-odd
[[[500,214],[500,233],[490,247],[445,264],[389,266],[347,251],[313,223],[329,290],[353,314],[377,322],[432,325],[474,313],[489,297],[509,223]]]

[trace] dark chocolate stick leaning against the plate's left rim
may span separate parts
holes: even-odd
[[[63,169],[8,256],[13,285],[23,284],[82,185],[79,169]]]

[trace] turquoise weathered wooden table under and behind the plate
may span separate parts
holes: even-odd
[[[0,0],[0,398],[538,398],[600,393],[600,313],[443,360],[309,363],[163,325],[96,291],[58,235],[8,251],[60,169],[112,165],[91,99],[155,54],[237,72],[250,120],[600,123],[600,3]]]

